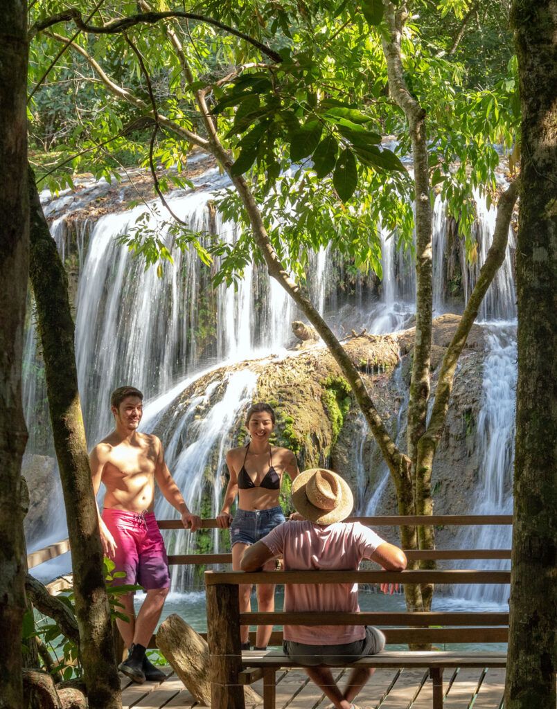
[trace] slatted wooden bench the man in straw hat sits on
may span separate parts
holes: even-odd
[[[390,518],[390,522],[394,518]],[[362,520],[364,521],[364,520]],[[368,520],[365,520],[366,522]],[[375,521],[375,520],[374,520]],[[381,520],[382,521],[382,520]],[[385,518],[386,521],[386,518]],[[397,520],[400,523],[400,518]],[[478,518],[476,521],[481,523]],[[502,521],[502,520],[501,520]],[[416,520],[404,520],[404,523]],[[495,523],[486,518],[483,523]],[[504,523],[510,520],[505,519]],[[458,522],[456,522],[458,523]],[[468,522],[468,519],[464,523]],[[508,558],[508,550],[437,550],[414,552],[414,558]],[[211,708],[243,709],[243,685],[263,679],[264,709],[275,709],[275,678],[280,669],[302,665],[277,650],[241,652],[241,625],[375,625],[387,644],[501,643],[507,642],[508,613],[240,613],[239,584],[509,584],[510,571],[409,570],[409,571],[206,571],[207,641],[209,643]],[[282,645],[282,632],[273,632],[272,645]],[[506,652],[387,651],[350,666],[390,669],[426,669],[433,689],[433,709],[443,706],[443,670],[448,668],[504,669]],[[343,666],[342,664],[336,666]],[[451,686],[453,677],[449,681]]]

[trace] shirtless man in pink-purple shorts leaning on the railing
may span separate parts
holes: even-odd
[[[165,677],[145,657],[170,588],[165,545],[153,514],[155,480],[167,501],[182,515],[184,527],[195,532],[201,526],[201,519],[189,511],[168,471],[160,440],[137,430],[143,415],[142,400],[143,394],[133,386],[120,386],[112,392],[114,431],[89,456],[95,495],[101,482],[106,486],[103,513],[99,514],[104,554],[114,559],[114,571],[126,574],[117,579],[118,585],[139,584],[145,588],[145,601],[137,618],[133,593],[128,593],[121,596],[121,603],[129,623],[116,620],[128,647],[128,658],[118,669],[138,683]]]

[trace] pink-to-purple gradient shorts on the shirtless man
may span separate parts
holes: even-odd
[[[102,518],[116,542],[114,571],[126,574],[125,578],[114,579],[114,585],[139,584],[147,590],[169,588],[168,557],[155,515],[105,508]]]

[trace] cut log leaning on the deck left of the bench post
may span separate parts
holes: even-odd
[[[209,646],[199,633],[172,613],[160,624],[157,631],[157,647],[166,657],[184,686],[204,706],[211,704],[209,680]],[[250,686],[244,687],[246,707],[254,706],[263,699]]]

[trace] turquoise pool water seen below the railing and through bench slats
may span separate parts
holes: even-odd
[[[404,593],[393,593],[392,596],[385,595],[384,593],[360,590],[360,610],[366,611],[405,611],[406,605],[404,604]],[[142,594],[136,594],[136,610],[139,608],[141,601],[143,600]],[[275,596],[275,609],[282,610],[282,605],[284,603],[284,593],[282,589],[277,590]],[[255,593],[252,596],[251,603],[252,610],[257,610],[257,601],[255,601]],[[508,607],[495,606],[495,605],[478,605],[475,603],[474,608],[470,608],[470,601],[461,601],[458,598],[439,596],[434,598],[433,608],[431,610],[437,611],[470,611],[470,610],[481,610],[481,611],[491,611],[498,613],[507,613]],[[165,607],[162,609],[162,620],[165,620],[171,613],[177,613],[180,615],[186,623],[192,626],[194,630],[198,632],[206,632],[207,630],[207,618],[206,618],[206,608],[205,608],[205,593],[204,591],[189,591],[187,593],[169,593],[167,596],[167,601]],[[275,630],[282,630],[281,626],[276,626]],[[407,649],[404,645],[387,645],[387,649]],[[506,652],[507,644],[504,642],[490,642],[490,643],[462,643],[462,644],[443,644],[439,647],[440,650],[453,650],[460,652],[478,652],[478,651],[491,651],[491,652]]]

